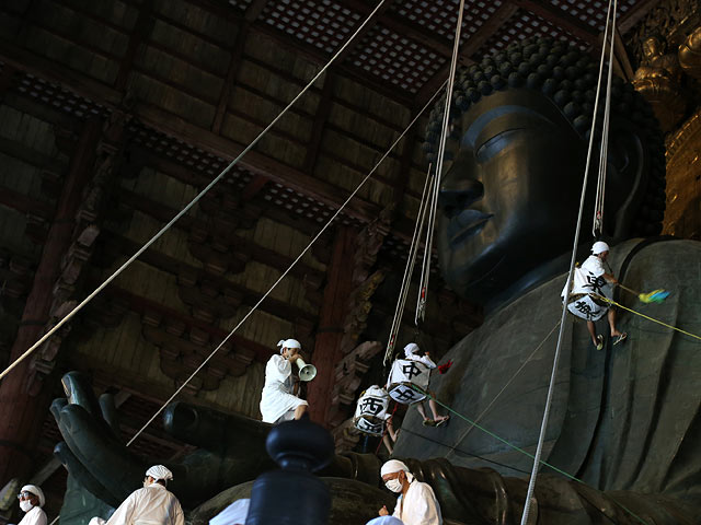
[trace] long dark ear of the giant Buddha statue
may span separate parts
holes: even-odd
[[[614,242],[628,238],[647,190],[650,155],[632,122],[611,117],[607,156],[604,231]],[[593,173],[596,177],[598,170]]]

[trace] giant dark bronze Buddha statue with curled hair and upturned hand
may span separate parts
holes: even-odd
[[[432,389],[528,452],[550,378],[596,80],[596,63],[585,54],[531,39],[462,70],[456,84],[439,202],[440,265],[457,292],[484,304],[486,318],[447,352],[453,365]],[[429,156],[439,122],[436,112]],[[650,107],[620,81],[607,158],[604,234],[616,245],[613,272],[630,288],[673,292],[664,306],[618,300],[700,332],[701,245],[636,238],[659,232],[664,148]],[[698,523],[701,515],[701,345],[632,314],[620,325],[629,332],[625,345],[597,351],[584,324],[566,322],[543,459],[586,485],[543,468],[535,493],[538,523],[633,524],[639,516],[671,525]],[[59,454],[83,487],[114,505],[139,485],[145,460],[111,436],[84,383],[65,381],[71,402],[54,405],[66,438]],[[175,472],[173,491],[191,510],[199,505],[193,523],[245,494],[246,482],[272,467],[263,452],[265,423],[180,404],[169,408],[165,427],[200,447],[177,465],[166,463]],[[458,417],[425,429],[410,412],[403,428],[409,432],[394,455],[410,458],[417,477],[433,485],[446,523],[517,523],[528,456]],[[322,472],[334,478],[336,509],[344,509],[332,511],[332,523],[364,523],[377,511],[388,495],[378,489],[379,466],[374,455],[348,454]],[[343,506],[359,493],[365,505]]]

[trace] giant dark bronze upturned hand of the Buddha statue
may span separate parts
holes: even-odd
[[[79,372],[66,374],[62,384],[66,398],[51,404],[65,440],[56,445],[55,454],[83,487],[113,506],[140,488],[146,469],[156,464],[173,471],[168,489],[185,508],[273,467],[265,453],[269,425],[179,401],[163,411],[163,425],[174,439],[198,448],[177,462],[141,457],[122,440],[111,395],[103,394],[97,400],[89,380]]]

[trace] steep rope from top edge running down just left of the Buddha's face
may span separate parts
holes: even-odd
[[[458,22],[456,24],[456,34],[452,43],[452,57],[450,60],[450,74],[448,75],[448,86],[446,89],[446,104],[443,114],[443,127],[440,128],[440,143],[438,145],[438,158],[436,159],[436,176],[434,178],[434,199],[428,215],[428,228],[426,229],[426,242],[424,243],[424,260],[421,272],[421,283],[418,285],[418,298],[416,300],[416,315],[414,323],[416,326],[424,320],[426,316],[426,301],[428,298],[428,278],[430,277],[430,256],[434,246],[434,230],[436,224],[436,209],[438,208],[438,192],[440,190],[440,182],[443,178],[444,155],[446,152],[446,142],[448,140],[448,124],[450,122],[450,106],[452,102],[452,86],[456,80],[456,69],[458,67],[458,48],[460,47],[460,33],[462,31],[462,11],[464,10],[464,0],[460,0],[458,12]]]

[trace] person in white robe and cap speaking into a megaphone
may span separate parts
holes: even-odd
[[[292,364],[300,358],[302,346],[297,339],[283,339],[277,343],[280,353],[265,365],[265,385],[261,396],[261,415],[265,423],[279,423],[299,419],[308,402],[294,394]]]

